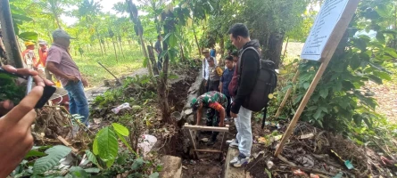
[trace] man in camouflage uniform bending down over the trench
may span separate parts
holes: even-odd
[[[207,126],[225,126],[225,109],[227,107],[227,97],[225,94],[216,91],[203,93],[203,95],[194,98],[190,106],[194,111],[197,111],[196,125],[200,125],[203,109],[207,109]],[[219,132],[212,132],[211,142],[208,145],[213,145],[216,142],[218,134]]]

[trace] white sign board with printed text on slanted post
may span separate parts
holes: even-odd
[[[311,27],[310,35],[303,46],[301,58],[318,61],[329,39],[335,31],[335,26],[341,20],[344,9],[349,0],[327,0],[318,12]]]

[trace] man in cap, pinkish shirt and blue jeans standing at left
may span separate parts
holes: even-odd
[[[64,89],[68,91],[70,114],[79,114],[81,123],[88,125],[88,101],[84,93],[87,80],[81,76],[79,67],[71,59],[69,53],[70,39],[66,31],[56,29],[53,32],[54,43],[48,50],[45,69],[50,70],[61,81]]]

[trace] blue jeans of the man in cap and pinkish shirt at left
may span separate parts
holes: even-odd
[[[84,86],[81,81],[69,82],[68,85],[63,86],[69,95],[69,111],[71,115],[79,114],[81,123],[88,125],[88,101],[84,93]]]

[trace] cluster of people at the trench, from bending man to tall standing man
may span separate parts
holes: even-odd
[[[203,83],[207,93],[194,98],[191,107],[196,111],[196,125],[201,124],[204,109],[206,109],[206,125],[224,126],[225,118],[234,118],[236,123],[236,139],[227,141],[230,147],[238,148],[239,155],[230,161],[231,166],[240,167],[248,163],[252,148],[252,111],[242,104],[250,96],[256,84],[260,66],[260,45],[251,40],[248,28],[242,23],[236,23],[228,30],[232,44],[239,52],[229,53],[225,58],[226,69],[217,65],[215,56],[207,50],[203,51]],[[248,47],[253,50],[244,51]],[[242,53],[244,51],[244,53]],[[244,64],[244,65],[243,65]],[[212,145],[217,140],[218,132],[212,132]]]

